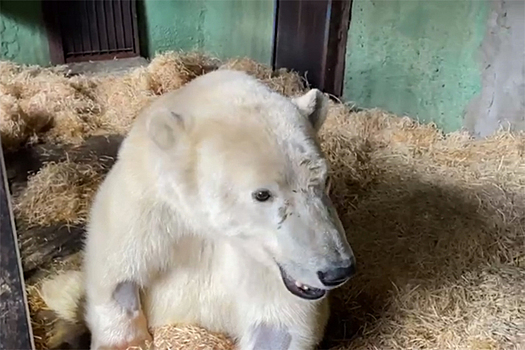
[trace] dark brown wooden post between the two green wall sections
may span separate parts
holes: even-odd
[[[341,96],[352,0],[276,0],[272,64]]]

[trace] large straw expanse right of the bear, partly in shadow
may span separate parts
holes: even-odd
[[[523,348],[525,134],[473,140],[378,110],[331,113],[332,196],[360,267],[335,293],[334,343]]]

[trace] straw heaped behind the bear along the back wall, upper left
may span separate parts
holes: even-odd
[[[224,63],[199,53],[169,52],[124,76],[68,77],[65,67],[23,67],[0,61],[0,136],[5,150],[37,142],[81,143],[92,135],[126,133],[141,108],[214,69],[249,71],[285,93],[304,90],[286,71],[251,60]]]

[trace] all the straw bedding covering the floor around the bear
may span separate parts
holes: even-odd
[[[67,77],[60,68],[1,63],[2,144],[14,150],[125,134],[157,95],[225,67],[287,95],[305,89],[294,73],[198,54],[166,53],[122,77]],[[525,134],[502,130],[474,140],[332,103],[321,139],[332,163],[332,197],[358,261],[358,275],[331,297],[322,348],[525,348]],[[84,223],[105,174],[96,159],[45,164],[14,198],[17,224]],[[77,265],[57,261],[40,276]],[[35,338],[46,349],[53,324],[39,316],[39,278],[28,282],[29,294]],[[163,327],[155,339],[177,349],[233,349],[198,327]]]

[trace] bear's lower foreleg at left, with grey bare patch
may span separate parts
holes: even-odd
[[[86,310],[92,331],[91,349],[145,348],[152,337],[140,306],[138,285],[121,282],[98,287],[91,293]]]

